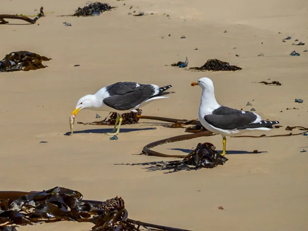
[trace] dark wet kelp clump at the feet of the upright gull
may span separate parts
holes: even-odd
[[[148,171],[171,170],[166,173],[181,170],[198,170],[200,168],[214,168],[228,161],[226,157],[221,156],[215,149],[216,147],[211,143],[199,143],[196,149],[191,150],[181,161],[160,161],[126,165],[147,165],[148,167],[145,167],[145,169]]]

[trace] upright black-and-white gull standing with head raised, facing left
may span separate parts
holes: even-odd
[[[199,120],[203,127],[222,136],[222,156],[226,153],[226,136],[240,134],[252,130],[271,130],[279,121],[265,121],[260,115],[251,111],[241,111],[220,106],[215,98],[213,82],[208,78],[201,78],[192,82],[191,86],[202,88]]]

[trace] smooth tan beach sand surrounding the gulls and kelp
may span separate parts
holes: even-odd
[[[203,76],[213,80],[220,104],[244,110],[254,107],[263,119],[279,120],[284,126],[249,135],[286,134],[290,132],[284,130],[286,126],[307,127],[308,52],[303,50],[308,48],[308,2],[105,2],[118,8],[78,18],[57,15],[72,14],[85,6],[85,0],[2,1],[0,14],[32,15],[41,6],[47,14],[34,25],[14,25],[26,22],[9,19],[13,25],[0,25],[0,56],[27,50],[52,60],[43,62],[49,66],[45,69],[0,74],[0,190],[62,186],[90,200],[121,196],[131,219],[191,230],[306,230],[308,152],[300,152],[308,151],[306,136],[228,138],[229,160],[224,166],[163,174],[114,164],[174,160],[132,154],[139,154],[150,142],[185,134],[183,128],[140,120],[140,124],[123,125],[116,141],[102,133],[111,131],[111,126],[75,124],[73,136],[67,134],[76,102],[118,81],[173,84],[170,90],[175,94],[145,106],[142,114],[197,119],[201,88],[190,83]],[[133,11],[149,15],[128,15]],[[287,36],[292,39],[283,43]],[[293,46],[298,43],[295,39],[307,45]],[[300,56],[290,56],[293,50]],[[192,72],[165,66],[184,61],[185,56],[188,67],[219,59],[243,69]],[[73,67],[76,64],[80,66]],[[279,81],[282,86],[253,83],[260,81]],[[294,103],[296,98],[304,102]],[[247,102],[253,106],[245,106]],[[286,110],[293,107],[298,110]],[[96,121],[95,113],[81,111],[76,121]],[[108,112],[98,114],[105,118]],[[155,150],[185,154],[199,142],[222,149],[221,136],[213,136]],[[255,149],[261,153],[251,154]],[[57,222],[18,230],[77,231],[92,226]]]

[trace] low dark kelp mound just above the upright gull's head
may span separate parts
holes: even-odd
[[[236,71],[242,70],[241,67],[229,65],[227,62],[223,62],[217,59],[207,60],[207,62],[201,67],[190,67],[189,70],[196,71]]]

